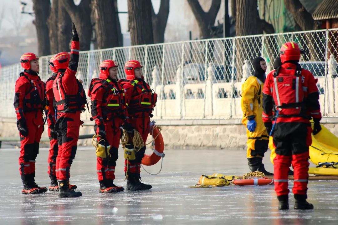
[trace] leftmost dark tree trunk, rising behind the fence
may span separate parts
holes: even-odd
[[[50,55],[50,41],[48,36],[47,19],[50,13],[50,1],[33,0],[35,27],[37,29],[39,55]]]

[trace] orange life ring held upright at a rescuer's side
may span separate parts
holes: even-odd
[[[144,154],[144,157],[142,159],[142,164],[146,166],[152,166],[155,165],[157,162],[160,161],[162,157],[164,157],[164,142],[163,137],[160,132],[160,130],[155,127],[153,129],[154,123],[150,123],[150,131],[149,134],[152,135],[153,138],[155,138],[155,146],[153,148],[153,153],[151,155]]]

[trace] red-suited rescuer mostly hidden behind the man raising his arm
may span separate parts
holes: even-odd
[[[53,57],[49,60],[48,64],[50,70],[53,72],[52,76],[46,81],[46,109],[47,109],[47,124],[48,124],[48,137],[49,137],[49,154],[48,154],[48,175],[50,178],[49,191],[59,191],[59,186],[56,179],[56,157],[58,152],[57,133],[54,129],[55,126],[55,107],[54,107],[54,93],[53,81],[57,76],[57,69],[52,63]],[[72,189],[76,189],[76,185],[70,185]]]

